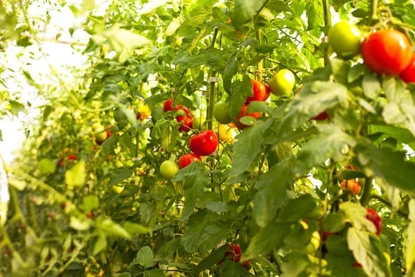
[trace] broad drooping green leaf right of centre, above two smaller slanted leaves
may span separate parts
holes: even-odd
[[[245,132],[245,131],[244,131]],[[293,198],[291,184],[293,175],[291,161],[284,160],[270,168],[268,172],[259,177],[254,188],[258,190],[254,197],[252,217],[258,226],[267,226],[277,215],[289,198]]]

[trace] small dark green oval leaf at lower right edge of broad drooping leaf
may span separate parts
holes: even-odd
[[[286,206],[282,209],[281,213],[279,213],[277,222],[282,223],[294,223],[298,220],[303,219],[313,211],[317,204],[311,195],[301,195],[296,199],[291,199],[288,201]]]

